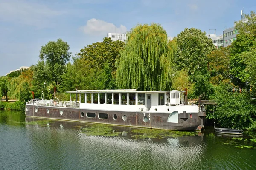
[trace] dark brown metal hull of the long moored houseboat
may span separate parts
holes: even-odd
[[[47,113],[47,111],[49,113]],[[62,115],[60,114],[61,111]],[[86,113],[88,112],[95,113],[95,118],[87,117]],[[108,118],[100,119],[99,113],[107,114]],[[114,115],[116,115],[116,119]],[[124,115],[127,117],[126,120],[123,120]],[[179,114],[178,123],[170,123],[167,122],[169,116],[168,113],[150,113],[148,111],[102,111],[38,105],[26,105],[26,116],[164,130],[196,130],[197,127],[201,125],[202,122],[205,122],[205,116],[199,117],[198,113],[192,113],[192,118],[189,116],[186,119],[182,118],[182,115]],[[145,116],[147,116],[148,118],[147,122],[143,121]]]

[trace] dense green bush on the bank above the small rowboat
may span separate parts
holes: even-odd
[[[215,87],[217,100],[215,119],[221,127],[250,129],[256,121],[255,99],[247,91],[228,92],[225,87]]]

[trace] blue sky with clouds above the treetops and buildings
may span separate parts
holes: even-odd
[[[42,45],[62,38],[72,54],[108,32],[159,23],[169,36],[185,28],[222,34],[255,0],[0,0],[0,76],[35,65]],[[115,28],[116,27],[116,28]]]

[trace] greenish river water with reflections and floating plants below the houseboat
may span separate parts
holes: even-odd
[[[1,170],[255,170],[256,135],[26,118],[0,111]]]

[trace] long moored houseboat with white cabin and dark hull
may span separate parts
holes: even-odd
[[[70,101],[26,102],[26,116],[165,130],[204,128],[204,106],[183,102],[183,95],[177,90],[77,90],[67,93]]]

